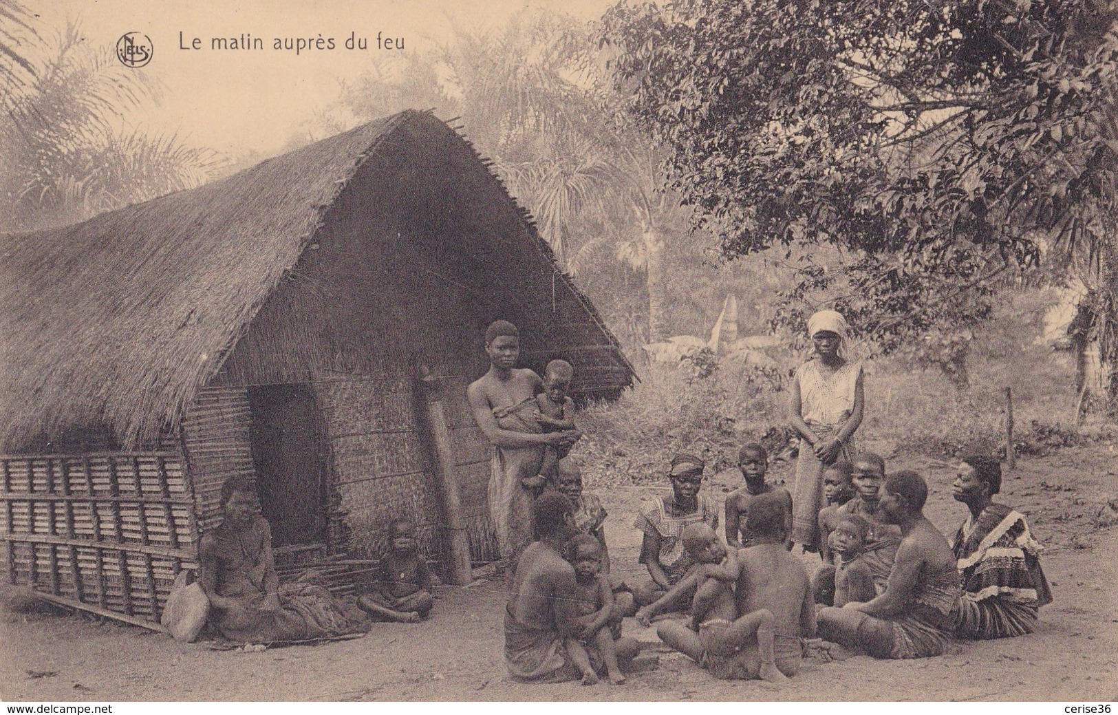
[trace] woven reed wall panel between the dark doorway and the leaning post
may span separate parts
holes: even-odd
[[[442,553],[439,504],[419,432],[411,383],[356,378],[316,384],[323,405],[332,479],[345,514],[348,547],[376,556],[388,524],[413,519],[424,551]]]

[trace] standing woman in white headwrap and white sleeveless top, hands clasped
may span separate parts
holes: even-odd
[[[862,424],[862,365],[843,357],[846,320],[821,310],[807,321],[815,355],[796,370],[789,418],[799,433],[799,459],[792,497],[792,539],[804,551],[819,547],[823,469],[840,458],[852,460],[853,438]]]

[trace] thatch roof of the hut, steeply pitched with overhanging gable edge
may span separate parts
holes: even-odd
[[[404,129],[454,133],[429,113],[402,112],[197,189],[0,236],[0,450],[93,425],[133,444],[178,424],[358,168]],[[553,271],[547,244],[500,190],[531,255]],[[625,367],[616,386],[629,384],[616,339],[557,275],[581,307],[582,335],[591,327]]]

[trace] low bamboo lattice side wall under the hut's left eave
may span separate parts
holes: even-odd
[[[198,528],[178,452],[0,457],[11,583],[158,621]]]

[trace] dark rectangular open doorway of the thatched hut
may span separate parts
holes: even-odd
[[[272,544],[325,540],[324,461],[314,392],[307,385],[250,387],[253,465]]]

